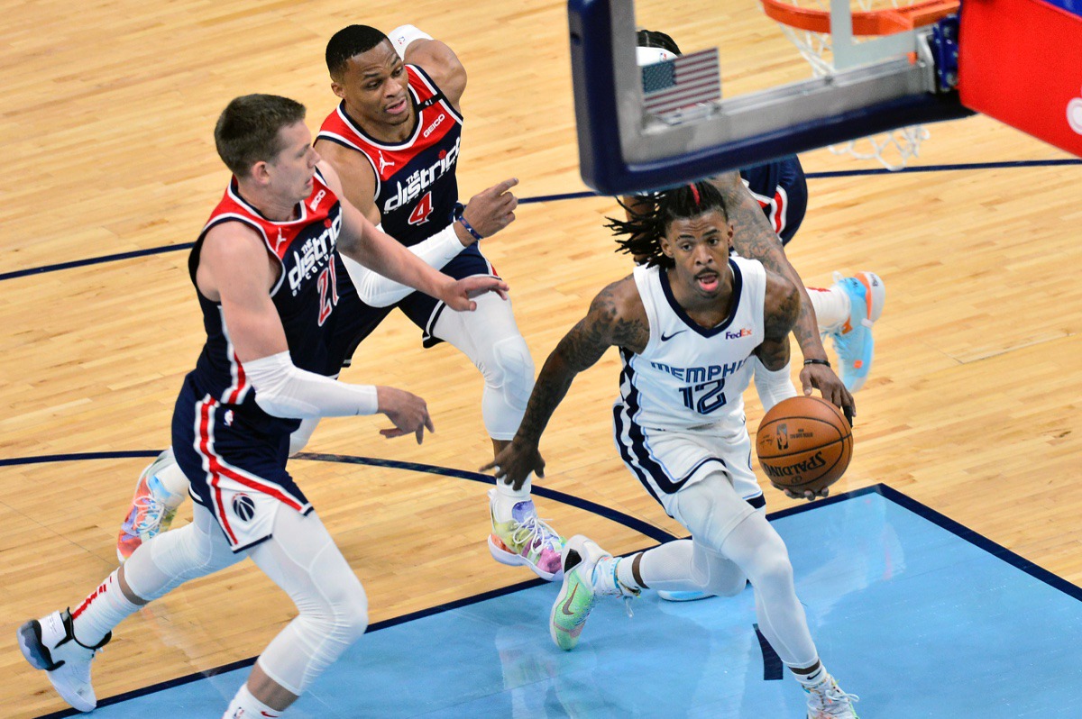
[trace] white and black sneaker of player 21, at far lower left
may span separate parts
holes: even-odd
[[[93,711],[97,706],[90,683],[90,663],[113,633],[105,635],[96,647],[80,644],[75,638],[71,613],[53,612],[41,620],[30,620],[18,628],[18,648],[35,669],[42,669],[56,692],[79,711]]]

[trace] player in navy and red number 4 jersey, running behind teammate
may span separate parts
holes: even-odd
[[[459,204],[456,169],[461,148],[459,102],[465,70],[454,53],[412,26],[387,38],[351,25],[327,45],[331,88],[341,103],[324,121],[316,149],[338,171],[345,197],[372,223],[408,245],[430,265],[456,278],[494,276],[476,242],[514,219],[517,203],[510,179]],[[324,374],[337,375],[358,344],[396,307],[422,330],[430,347],[446,341],[485,376],[481,412],[499,451],[514,436],[533,386],[533,361],[511,305],[480,296],[469,317],[444,304],[392,285],[340,259],[340,311],[331,318],[331,348]],[[294,432],[290,452],[307,442],[317,420]],[[138,544],[167,529],[185,495],[186,480],[167,450],[136,482],[121,527],[121,561]],[[489,492],[489,551],[500,562],[529,567],[552,580],[559,571],[560,537],[538,518],[529,482],[518,490],[498,483]]]

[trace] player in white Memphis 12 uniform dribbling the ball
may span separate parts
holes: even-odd
[[[741,396],[755,364],[765,370],[768,405],[794,394],[789,332],[797,289],[757,261],[729,257],[733,225],[709,182],[663,192],[652,212],[610,227],[647,265],[605,288],[559,342],[515,439],[484,469],[512,483],[542,476],[538,444],[553,412],[575,376],[618,347],[623,371],[612,414],[621,458],[691,540],[615,559],[571,537],[550,634],[572,649],[598,597],[630,600],[645,588],[734,595],[750,581],[760,629],[807,692],[807,716],[854,719],[856,697],[819,661],[786,546],[755,508],[762,492]]]

